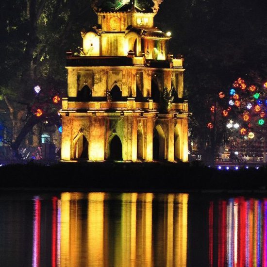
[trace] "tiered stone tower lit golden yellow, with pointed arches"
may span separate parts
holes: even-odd
[[[187,161],[183,58],[154,27],[162,0],[153,2],[93,1],[98,25],[67,52],[62,160]]]

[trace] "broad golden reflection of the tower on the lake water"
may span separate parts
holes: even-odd
[[[186,267],[187,194],[62,193],[58,267]]]

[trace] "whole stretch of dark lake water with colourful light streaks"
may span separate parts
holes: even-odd
[[[267,195],[1,193],[1,267],[267,267]]]

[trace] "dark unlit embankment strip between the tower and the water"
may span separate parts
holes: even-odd
[[[42,190],[264,190],[267,169],[217,170],[171,163],[58,163],[0,167],[0,187]]]

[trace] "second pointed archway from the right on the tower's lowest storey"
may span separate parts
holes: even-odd
[[[165,134],[160,125],[157,125],[153,133],[153,160],[165,159]]]

